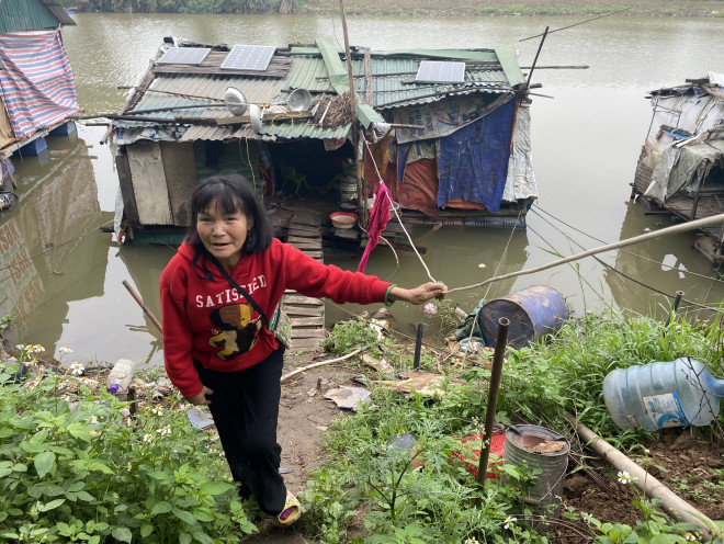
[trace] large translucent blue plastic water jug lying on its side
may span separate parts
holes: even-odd
[[[623,430],[643,427],[710,424],[719,417],[724,379],[689,358],[611,371],[603,379],[603,400]]]

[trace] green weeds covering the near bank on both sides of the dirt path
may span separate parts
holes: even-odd
[[[670,325],[614,311],[570,319],[545,343],[508,349],[496,420],[566,434],[561,413],[567,410],[619,449],[637,451],[648,434],[616,429],[602,400],[604,376],[679,356],[705,362],[721,375],[722,338],[721,315],[705,324],[675,316]],[[397,367],[411,366],[410,349],[381,341],[360,319],[335,327],[326,345],[336,354],[365,347],[394,355]],[[23,358],[35,364],[31,348],[39,349],[27,347]],[[401,395],[378,386],[372,403],[333,422],[326,464],[299,495],[307,534],[325,544],[547,544],[552,531],[573,522],[595,544],[685,543],[695,533],[694,525],[671,522],[635,490],[631,508],[643,519],[635,526],[602,522],[572,507],[563,519],[541,524],[546,511],[521,500],[540,472],[524,464],[504,464],[496,468],[498,478],[478,485],[453,460],[461,438],[482,431],[487,409],[490,371],[472,361],[429,352],[423,364],[444,369],[440,394]],[[142,404],[129,416],[127,404],[93,394],[78,377],[31,374],[32,387],[14,379],[0,374],[3,542],[230,544],[254,530],[218,444],[190,426],[179,398],[163,407]],[[75,393],[64,393],[72,379],[79,384]],[[703,432],[712,440],[723,434],[719,421]],[[412,445],[404,445],[403,435],[412,435]],[[676,485],[692,497],[719,492],[724,471],[710,480],[703,490],[693,489],[690,478]],[[348,537],[352,523],[366,536]]]

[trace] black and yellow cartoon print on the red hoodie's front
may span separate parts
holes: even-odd
[[[259,318],[252,320],[252,315],[249,304],[230,304],[212,310],[212,322],[222,329],[208,339],[210,345],[222,348],[216,356],[228,361],[254,347],[262,324]]]

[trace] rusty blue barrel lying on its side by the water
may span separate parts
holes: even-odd
[[[547,285],[533,285],[490,301],[480,308],[477,320],[485,343],[495,347],[498,319],[508,318],[508,344],[523,348],[554,333],[568,316],[561,293]]]

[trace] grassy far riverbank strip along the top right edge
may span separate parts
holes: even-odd
[[[577,0],[448,0],[444,4],[433,0],[346,0],[348,15],[578,15],[598,16],[615,11],[618,16],[724,16],[722,0],[637,0],[631,4],[615,0],[598,0],[592,3]],[[337,13],[337,0],[309,0],[295,8],[298,13]]]

